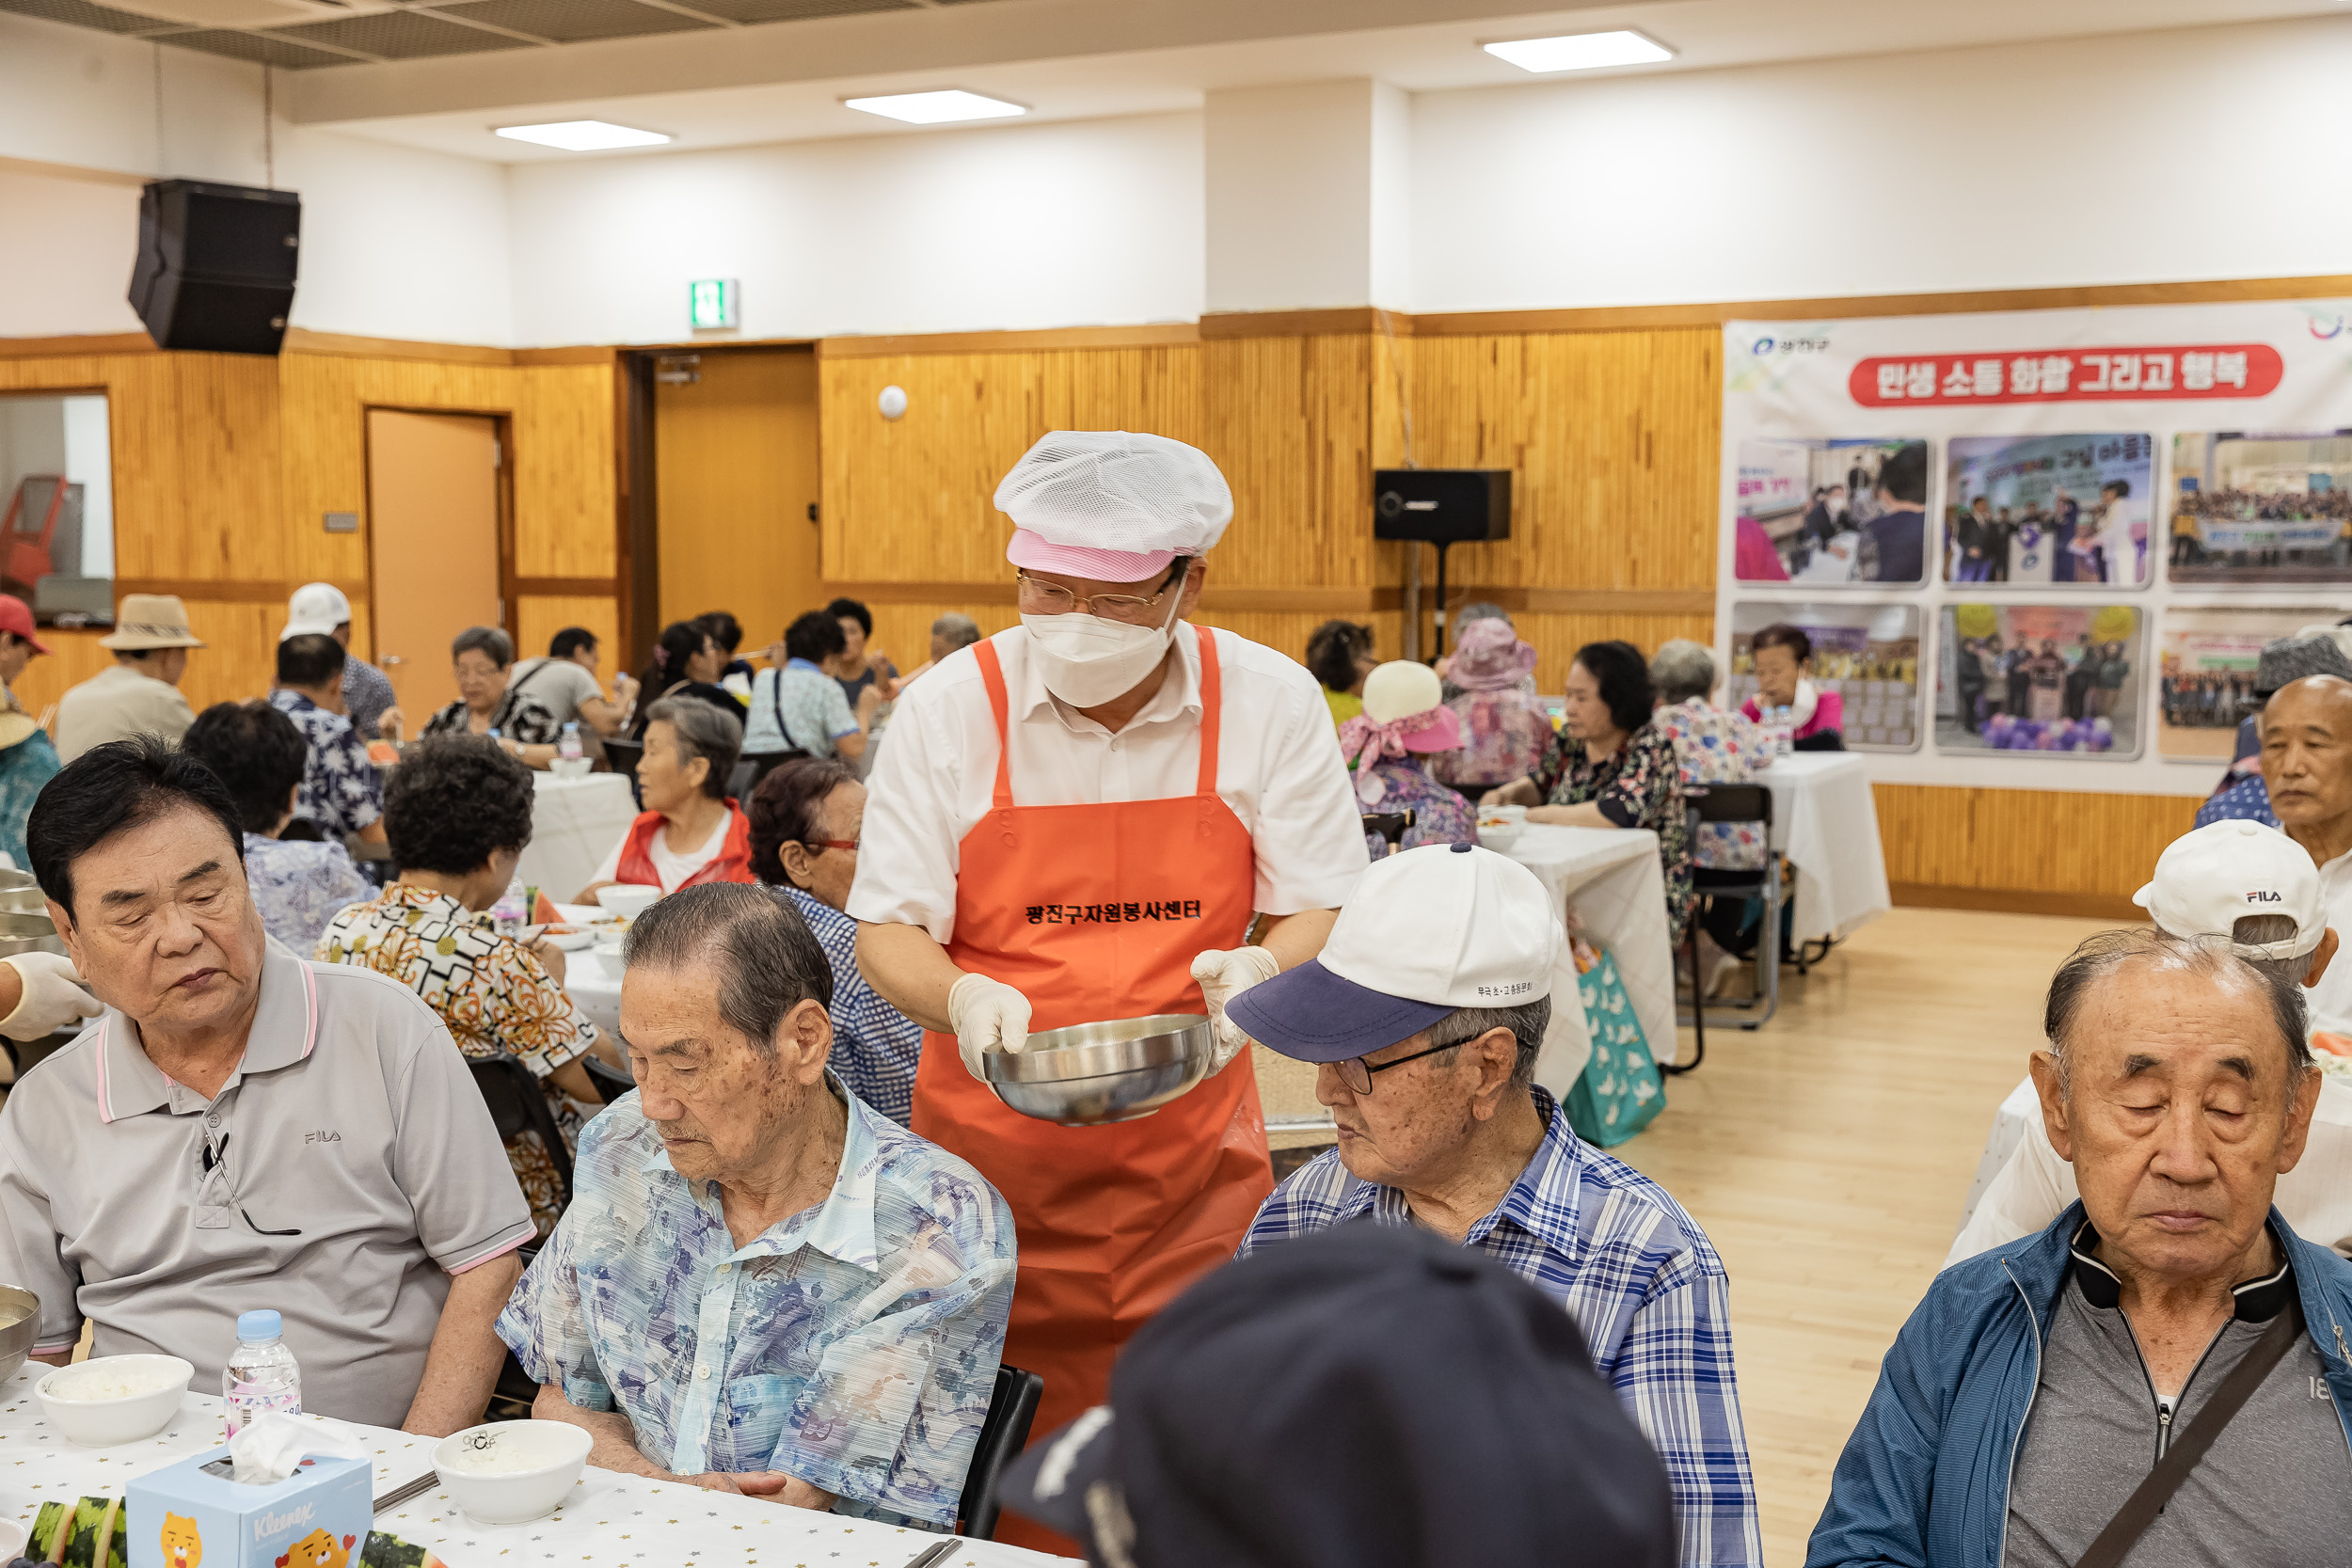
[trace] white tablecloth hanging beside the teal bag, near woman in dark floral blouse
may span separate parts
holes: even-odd
[[[1646,827],[1529,823],[1503,853],[1536,872],[1562,907],[1576,905],[1595,943],[1616,954],[1651,1056],[1675,1060],[1675,952],[1658,835]]]

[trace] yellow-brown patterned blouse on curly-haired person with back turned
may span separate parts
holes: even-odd
[[[318,938],[318,959],[360,964],[400,980],[440,1013],[466,1056],[506,1051],[522,1058],[548,1091],[548,1110],[555,1112],[564,1143],[579,1143],[583,1107],[546,1079],[588,1053],[595,1025],[532,950],[499,936],[487,914],[470,912],[449,893],[395,882],[369,903],[355,903],[329,919]],[[536,1133],[522,1133],[508,1143],[506,1154],[546,1239],[562,1208],[562,1178],[550,1152],[536,1145]]]

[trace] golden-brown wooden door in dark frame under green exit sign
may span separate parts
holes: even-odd
[[[701,355],[654,390],[661,623],[727,609],[757,656],[826,595],[816,557],[816,355]]]

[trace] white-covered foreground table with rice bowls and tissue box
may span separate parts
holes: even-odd
[[[228,1321],[223,1319],[223,1331]],[[0,1516],[31,1528],[42,1502],[120,1497],[125,1481],[221,1443],[221,1401],[191,1392],[160,1436],[118,1448],[78,1448],[42,1420],[33,1399],[47,1366],[28,1361],[0,1385]],[[433,1469],[433,1439],[383,1427],[318,1420],[374,1448],[381,1497]],[[590,1568],[734,1568],[736,1563],[826,1563],[828,1568],[901,1568],[938,1535],[863,1519],[811,1514],[779,1502],[706,1493],[675,1481],[647,1481],[588,1469],[572,1497],[548,1519],[485,1526],[459,1514],[442,1490],[412,1497],[379,1521],[400,1540],[430,1547],[449,1568],[508,1563],[588,1563]],[[755,1556],[764,1552],[764,1556]],[[207,1554],[209,1556],[209,1554]],[[226,1552],[223,1552],[226,1556]],[[358,1556],[358,1554],[355,1554]],[[955,1568],[1023,1568],[1070,1559],[967,1542],[950,1552]]]

